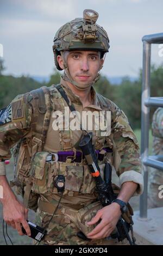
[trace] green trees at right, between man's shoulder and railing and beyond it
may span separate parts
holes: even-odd
[[[163,64],[151,65],[151,96],[163,96]],[[131,126],[134,129],[141,127],[141,90],[142,90],[142,69],[136,81],[131,82],[124,78],[120,86],[116,86],[117,105],[126,113]],[[150,120],[156,108],[150,110]],[[151,122],[150,122],[151,123]]]

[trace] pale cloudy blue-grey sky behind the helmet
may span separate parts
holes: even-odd
[[[5,74],[49,76],[54,70],[53,39],[58,28],[84,9],[96,10],[108,33],[109,53],[102,74],[139,75],[142,36],[163,32],[162,0],[0,0],[0,44]],[[152,63],[163,63],[152,45]]]

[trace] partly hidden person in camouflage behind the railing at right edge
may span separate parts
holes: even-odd
[[[152,120],[153,155],[163,155],[163,108],[159,107],[153,114]],[[159,187],[163,185],[163,172],[150,168],[149,171],[149,208],[162,207],[163,199],[159,198]]]

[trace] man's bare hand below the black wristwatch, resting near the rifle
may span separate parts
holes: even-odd
[[[98,210],[95,217],[93,217],[91,221],[87,222],[87,225],[93,225],[99,220],[101,220],[101,222],[96,226],[96,228],[87,234],[87,237],[90,239],[102,239],[108,237],[115,229],[120,216],[120,205],[116,203],[112,203],[101,210]]]

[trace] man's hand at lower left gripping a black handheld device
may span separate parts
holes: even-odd
[[[30,228],[27,222],[28,209],[18,200],[11,200],[3,206],[4,221],[17,229],[19,235],[23,235],[22,226],[26,230],[28,236],[31,235]]]

